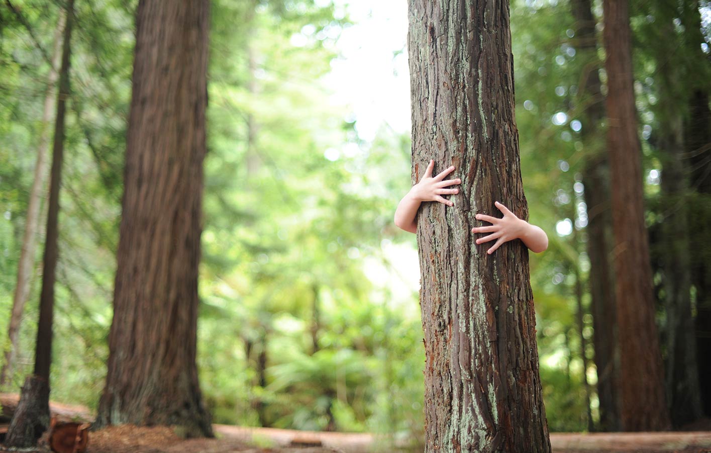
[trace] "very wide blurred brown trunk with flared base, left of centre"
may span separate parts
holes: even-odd
[[[95,427],[213,436],[196,366],[208,0],[141,0],[109,361]]]

